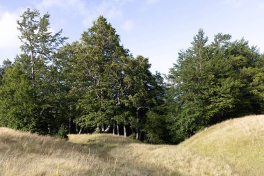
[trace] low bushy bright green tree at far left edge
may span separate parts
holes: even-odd
[[[31,96],[32,88],[22,65],[14,63],[6,67],[0,89],[0,124],[3,127],[38,131],[38,119],[33,115],[35,108]]]

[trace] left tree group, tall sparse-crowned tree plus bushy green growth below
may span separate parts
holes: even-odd
[[[54,90],[58,90],[58,84],[53,83],[53,56],[66,38],[60,37],[62,31],[54,35],[49,32],[48,13],[40,16],[38,10],[27,9],[21,17],[17,29],[24,54],[5,69],[0,92],[1,119],[8,127],[53,134],[63,121],[61,104],[55,101],[58,99],[51,99],[56,97]]]

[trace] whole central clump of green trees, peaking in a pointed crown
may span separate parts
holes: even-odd
[[[144,139],[143,133],[153,134],[155,129],[144,127],[147,112],[164,102],[165,91],[160,86],[163,79],[160,74],[151,74],[147,58],[133,58],[120,45],[119,35],[104,17],[100,16],[83,33],[81,42],[65,46],[62,53],[63,69],[69,70],[73,80],[79,80],[71,86],[80,93],[80,114],[74,122],[90,132],[107,132],[111,128],[113,134],[117,129],[117,134],[124,136],[127,131],[135,132],[138,139]],[[158,120],[159,113],[156,114]]]

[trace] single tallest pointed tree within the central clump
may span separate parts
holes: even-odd
[[[104,129],[104,125],[113,123],[111,117],[115,113],[113,91],[116,90],[117,79],[113,78],[119,70],[114,70],[114,66],[119,65],[128,51],[119,44],[119,35],[102,16],[83,33],[81,40],[79,67],[87,84],[83,99],[79,100],[79,109],[83,114],[77,121],[81,126]],[[109,81],[112,79],[113,82]]]

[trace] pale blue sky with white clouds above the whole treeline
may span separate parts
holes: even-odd
[[[34,8],[51,15],[51,31],[63,29],[73,42],[103,15],[133,56],[149,58],[151,72],[167,74],[181,49],[191,47],[199,29],[213,40],[229,33],[264,51],[264,1],[261,0],[1,0],[0,65],[21,51],[17,19]]]

